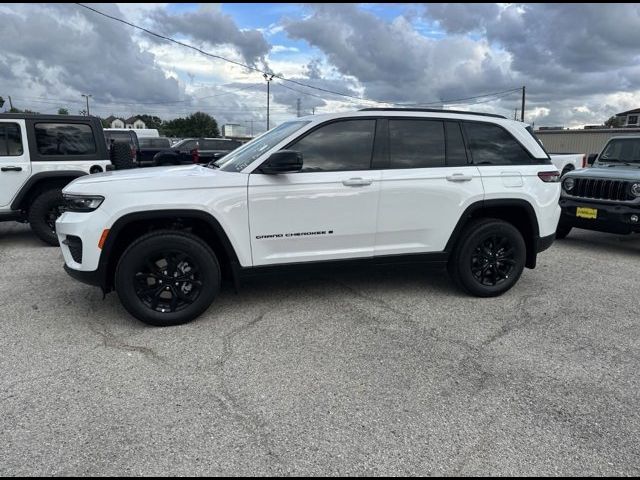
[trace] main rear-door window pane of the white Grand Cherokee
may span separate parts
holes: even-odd
[[[434,120],[389,120],[390,168],[444,167],[444,125]]]

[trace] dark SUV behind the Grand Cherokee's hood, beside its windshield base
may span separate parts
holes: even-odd
[[[155,165],[185,165],[218,160],[241,145],[229,138],[185,138],[153,157]]]

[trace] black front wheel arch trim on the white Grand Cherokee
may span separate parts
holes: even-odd
[[[98,264],[104,291],[113,289],[117,262],[131,241],[160,229],[190,231],[201,238],[218,257],[223,275],[230,276],[237,284],[240,270],[237,253],[213,215],[199,210],[154,210],[124,215],[109,229]]]

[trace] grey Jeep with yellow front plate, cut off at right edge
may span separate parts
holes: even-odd
[[[563,177],[557,238],[573,228],[640,232],[640,136],[613,137],[591,168]]]

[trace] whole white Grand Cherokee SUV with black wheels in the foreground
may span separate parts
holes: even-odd
[[[107,172],[64,189],[67,272],[153,325],[204,312],[224,274],[438,262],[477,296],[534,268],[559,172],[496,115],[366,109],[286,122],[215,164]]]

